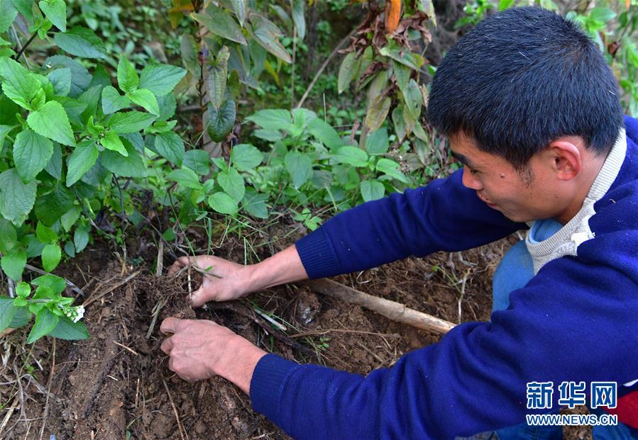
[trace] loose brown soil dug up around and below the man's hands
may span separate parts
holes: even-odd
[[[515,241],[510,237],[462,254],[410,258],[335,279],[451,322],[488,320],[493,271]],[[363,374],[390,367],[407,351],[440,338],[303,286],[278,286],[248,300],[193,310],[187,292],[197,288],[199,274],[192,273],[190,281],[186,272],[178,278],[155,276],[150,268],[157,250],[148,242],[143,248],[129,249],[134,261],[143,260],[141,266],[123,265],[109,244],[97,244],[60,270],[77,286],[86,286],[87,298],[78,302],[89,304],[84,321],[90,339],[42,339],[25,346],[24,329],[5,337],[0,439],[52,434],[57,440],[288,439],[224,379],[188,383],[168,370],[159,348],[159,324],[168,316],[211,319],[287,359]],[[243,249],[230,243],[215,254],[243,261]],[[165,261],[172,262],[169,256]],[[118,287],[99,298],[113,286]],[[255,314],[255,306],[285,331]],[[566,431],[566,439],[588,435],[584,429]]]

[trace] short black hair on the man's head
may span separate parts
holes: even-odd
[[[593,40],[537,6],[495,13],[458,40],[434,74],[427,118],[518,170],[566,135],[606,154],[624,126],[617,81]]]

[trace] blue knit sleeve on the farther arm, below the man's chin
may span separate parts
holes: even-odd
[[[310,278],[333,276],[410,255],[461,251],[527,227],[463,186],[463,171],[336,215],[295,246]]]

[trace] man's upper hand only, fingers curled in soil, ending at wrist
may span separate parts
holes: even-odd
[[[233,263],[219,256],[182,256],[170,266],[169,275],[175,275],[189,262],[201,269],[204,277],[202,286],[193,292],[191,300],[194,307],[200,307],[207,301],[236,300],[252,291],[252,266]]]

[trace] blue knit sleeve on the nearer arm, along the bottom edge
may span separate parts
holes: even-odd
[[[297,440],[447,440],[513,426],[546,411],[527,409],[529,382],[635,378],[636,291],[617,269],[563,257],[491,322],[458,325],[365,377],[265,356],[253,407]]]

